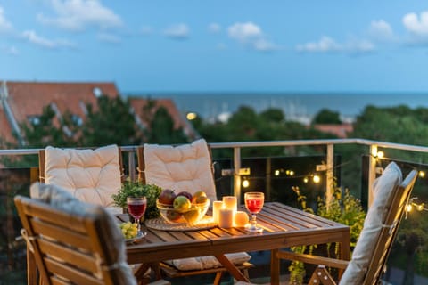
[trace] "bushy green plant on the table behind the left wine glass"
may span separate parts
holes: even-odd
[[[111,195],[111,198],[116,206],[127,208],[128,197],[145,196],[147,198],[147,208],[145,209],[144,218],[152,219],[161,216],[156,207],[156,199],[161,195],[161,191],[161,187],[157,185],[133,182],[128,179],[122,183],[122,187],[117,194]]]

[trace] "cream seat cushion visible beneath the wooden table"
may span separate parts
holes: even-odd
[[[249,261],[251,256],[246,252],[228,253],[225,255],[234,265],[242,265],[244,262]],[[199,256],[182,259],[173,259],[165,261],[166,264],[173,265],[178,270],[203,270],[210,268],[218,268],[222,265],[214,256]]]

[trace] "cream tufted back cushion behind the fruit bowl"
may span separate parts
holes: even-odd
[[[176,192],[205,191],[211,201],[217,200],[207,142],[201,139],[177,147],[144,144],[146,183]]]

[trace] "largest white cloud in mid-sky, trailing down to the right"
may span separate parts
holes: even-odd
[[[227,28],[227,32],[230,38],[259,52],[270,52],[279,49],[279,46],[270,42],[262,29],[251,21],[235,23]]]

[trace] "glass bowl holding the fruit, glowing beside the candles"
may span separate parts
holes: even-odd
[[[210,208],[210,199],[204,203],[193,203],[191,208],[174,208],[172,205],[166,205],[156,200],[156,207],[165,221],[171,224],[197,224],[207,214]]]

